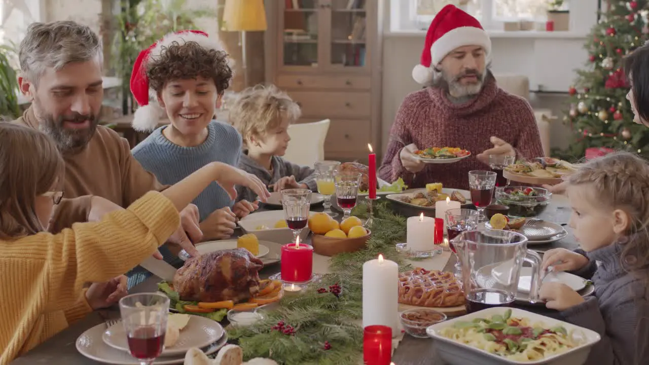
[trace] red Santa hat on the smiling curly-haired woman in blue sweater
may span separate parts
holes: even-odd
[[[164,49],[178,42],[196,42],[205,49],[225,51],[218,37],[210,37],[206,32],[201,31],[180,31],[169,33],[161,40],[143,50],[133,64],[133,72],[130,75],[130,92],[140,105],[133,116],[133,129],[136,131],[153,131],[160,119],[164,116],[164,108],[158,104],[155,90],[149,88],[147,77],[147,64],[162,55]]]

